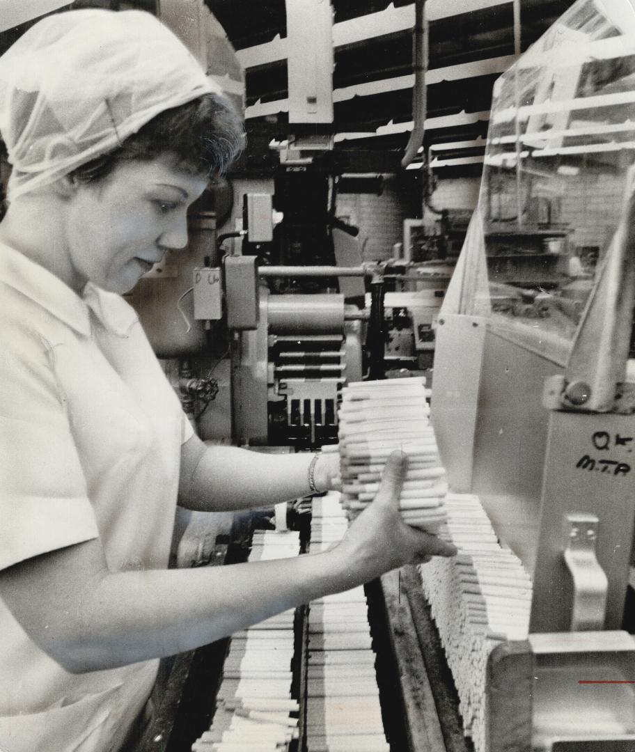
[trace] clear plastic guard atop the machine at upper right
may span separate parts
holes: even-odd
[[[635,10],[579,0],[494,86],[482,240],[464,247],[487,284],[463,289],[463,310],[570,347],[633,162]]]

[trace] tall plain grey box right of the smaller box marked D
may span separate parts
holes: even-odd
[[[227,327],[244,331],[258,328],[257,256],[225,256]]]

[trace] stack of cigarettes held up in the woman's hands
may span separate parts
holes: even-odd
[[[445,522],[448,491],[423,378],[360,381],[342,389],[339,452],[342,504],[354,517],[377,493],[394,450],[408,456],[400,511],[409,525],[436,532]]]

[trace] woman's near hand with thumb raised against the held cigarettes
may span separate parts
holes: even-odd
[[[375,499],[354,520],[333,553],[345,557],[355,580],[372,580],[405,564],[423,563],[430,556],[454,556],[456,547],[436,535],[406,525],[399,511],[399,493],[407,457],[393,452],[386,462]]]

